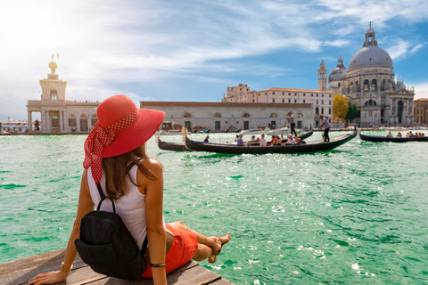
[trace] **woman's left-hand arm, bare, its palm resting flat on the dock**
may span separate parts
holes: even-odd
[[[74,245],[74,240],[80,237],[80,220],[90,211],[94,210],[94,203],[92,202],[91,195],[89,192],[89,186],[87,184],[87,171],[83,172],[82,182],[80,183],[80,192],[78,194],[78,213],[71,230],[70,239],[65,250],[65,257],[63,268],[68,269],[74,262],[78,251]],[[53,284],[64,281],[69,273],[62,272],[61,270],[53,271],[50,273],[40,273],[36,277],[33,277],[29,284]]]

